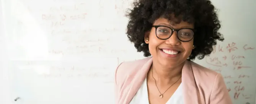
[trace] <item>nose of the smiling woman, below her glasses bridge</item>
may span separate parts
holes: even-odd
[[[169,39],[166,39],[166,44],[169,44],[171,46],[179,46],[181,44],[181,41],[179,41],[177,32],[173,31],[171,37]]]

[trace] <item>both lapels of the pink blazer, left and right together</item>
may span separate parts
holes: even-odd
[[[142,85],[143,80],[145,80],[152,62],[153,58],[150,57],[149,60],[143,65],[143,67],[140,70],[137,70],[138,72],[135,74],[134,79],[131,81],[131,85],[133,86],[130,87],[130,91],[127,94],[127,98],[123,104],[129,104],[129,102],[135,96],[140,86]],[[189,61],[185,61],[181,74],[184,104],[199,104],[194,74]]]

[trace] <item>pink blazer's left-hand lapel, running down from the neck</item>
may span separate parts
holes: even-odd
[[[131,87],[130,90],[127,93],[126,100],[123,104],[129,104],[129,102],[132,100],[132,98],[135,96],[137,91],[139,90],[140,86],[142,85],[143,81],[145,80],[148,70],[150,69],[152,65],[152,57],[142,66],[140,70],[137,70],[138,72],[135,73],[134,79],[131,81]]]

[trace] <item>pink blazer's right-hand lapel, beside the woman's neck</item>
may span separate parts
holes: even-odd
[[[185,61],[182,68],[182,85],[183,85],[183,96],[184,104],[199,104],[196,82],[189,61]]]

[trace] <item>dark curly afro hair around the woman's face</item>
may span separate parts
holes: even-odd
[[[145,57],[151,56],[144,35],[150,31],[155,20],[166,18],[176,23],[181,20],[194,23],[197,30],[194,34],[194,46],[188,60],[196,57],[201,60],[213,51],[217,40],[223,41],[217,9],[209,0],[136,0],[133,8],[128,9],[126,17],[129,18],[126,34],[129,41],[134,43],[137,52],[144,52]]]

